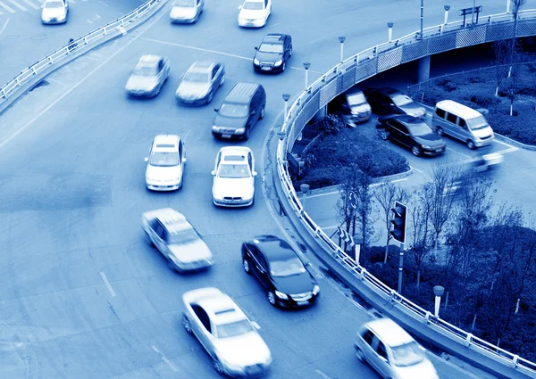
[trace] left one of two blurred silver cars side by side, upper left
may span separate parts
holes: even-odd
[[[131,96],[154,97],[170,76],[170,62],[158,55],[143,55],[130,73],[125,90]]]

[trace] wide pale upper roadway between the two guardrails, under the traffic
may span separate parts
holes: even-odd
[[[432,25],[443,18],[442,2],[429,3],[426,24]],[[502,1],[493,4],[490,13],[502,12]],[[313,62],[310,78],[318,78],[315,72],[339,59],[337,36],[345,34],[347,52],[356,52],[381,42],[387,21],[400,36],[417,29],[418,10],[392,0],[358,7],[348,0],[314,6],[296,0],[275,3],[266,28],[244,30],[236,25],[238,6],[236,0],[207,1],[196,25],[172,26],[168,4],[127,37],[54,72],[0,117],[0,378],[215,378],[209,358],[180,325],[181,294],[207,285],[229,293],[261,325],[273,355],[269,377],[377,377],[352,350],[356,327],[369,313],[323,274],[310,251],[305,256],[322,288],[311,309],[272,308],[242,272],[242,241],[285,232],[270,217],[260,179],[254,207],[214,208],[209,173],[225,144],[214,140],[210,127],[213,108],[235,83],[261,83],[266,117],[247,143],[237,143],[252,148],[258,160],[281,119],[281,94],[302,89],[301,62]],[[296,10],[304,10],[299,18]],[[279,76],[255,75],[253,47],[272,31],[292,35],[292,67]],[[141,54],[163,54],[172,63],[171,78],[154,100],[124,94]],[[208,106],[177,106],[173,93],[181,74],[202,59],[225,63],[225,85]],[[150,193],[143,159],[152,138],[166,132],[186,141],[184,187]],[[147,245],[140,214],[167,206],[197,227],[214,252],[213,269],[174,274]],[[441,378],[490,377],[433,359]]]

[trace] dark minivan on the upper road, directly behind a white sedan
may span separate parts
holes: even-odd
[[[264,118],[266,93],[255,83],[237,83],[223,100],[213,122],[213,135],[217,138],[249,138],[257,120]]]

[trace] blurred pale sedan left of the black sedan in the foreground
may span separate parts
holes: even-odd
[[[169,260],[177,272],[208,268],[213,254],[195,227],[177,210],[163,208],[141,215],[141,227],[150,243]]]

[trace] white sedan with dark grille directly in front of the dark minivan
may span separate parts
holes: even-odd
[[[220,149],[214,163],[213,202],[221,207],[248,207],[255,202],[255,158],[245,146]]]

